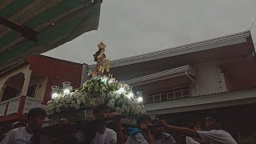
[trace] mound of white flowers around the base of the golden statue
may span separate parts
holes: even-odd
[[[94,93],[101,95],[104,103],[118,113],[128,114],[134,117],[138,114],[145,114],[142,102],[138,102],[137,98],[130,98],[127,94],[130,91],[126,85],[125,93],[118,91],[118,82],[113,78],[92,78],[84,83],[82,89],[75,90],[70,94],[59,93],[58,96],[47,102],[48,114],[61,113],[70,110],[79,110],[88,105],[95,106]]]

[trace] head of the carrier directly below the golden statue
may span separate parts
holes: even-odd
[[[111,110],[110,107],[106,104],[99,104],[94,108],[94,117],[95,118],[107,118],[110,117]]]

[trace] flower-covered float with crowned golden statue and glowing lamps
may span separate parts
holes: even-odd
[[[52,86],[52,99],[47,102],[46,108],[51,122],[59,118],[69,118],[71,121],[93,119],[92,110],[99,103],[126,114],[128,119],[145,113],[142,92],[134,94],[131,86],[110,74],[110,61],[105,59],[105,47],[103,43],[98,44],[99,50],[94,54],[97,66],[91,72],[92,78],[81,88],[72,90],[70,82],[63,82],[62,89]]]

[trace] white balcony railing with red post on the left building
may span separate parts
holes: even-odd
[[[19,96],[0,102],[0,122],[15,118],[26,118],[25,114],[34,107],[45,107],[35,98]]]

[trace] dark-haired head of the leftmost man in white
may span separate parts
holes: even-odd
[[[47,116],[46,110],[41,107],[30,109],[27,114],[27,123],[33,130],[38,130],[42,127],[43,122]]]

